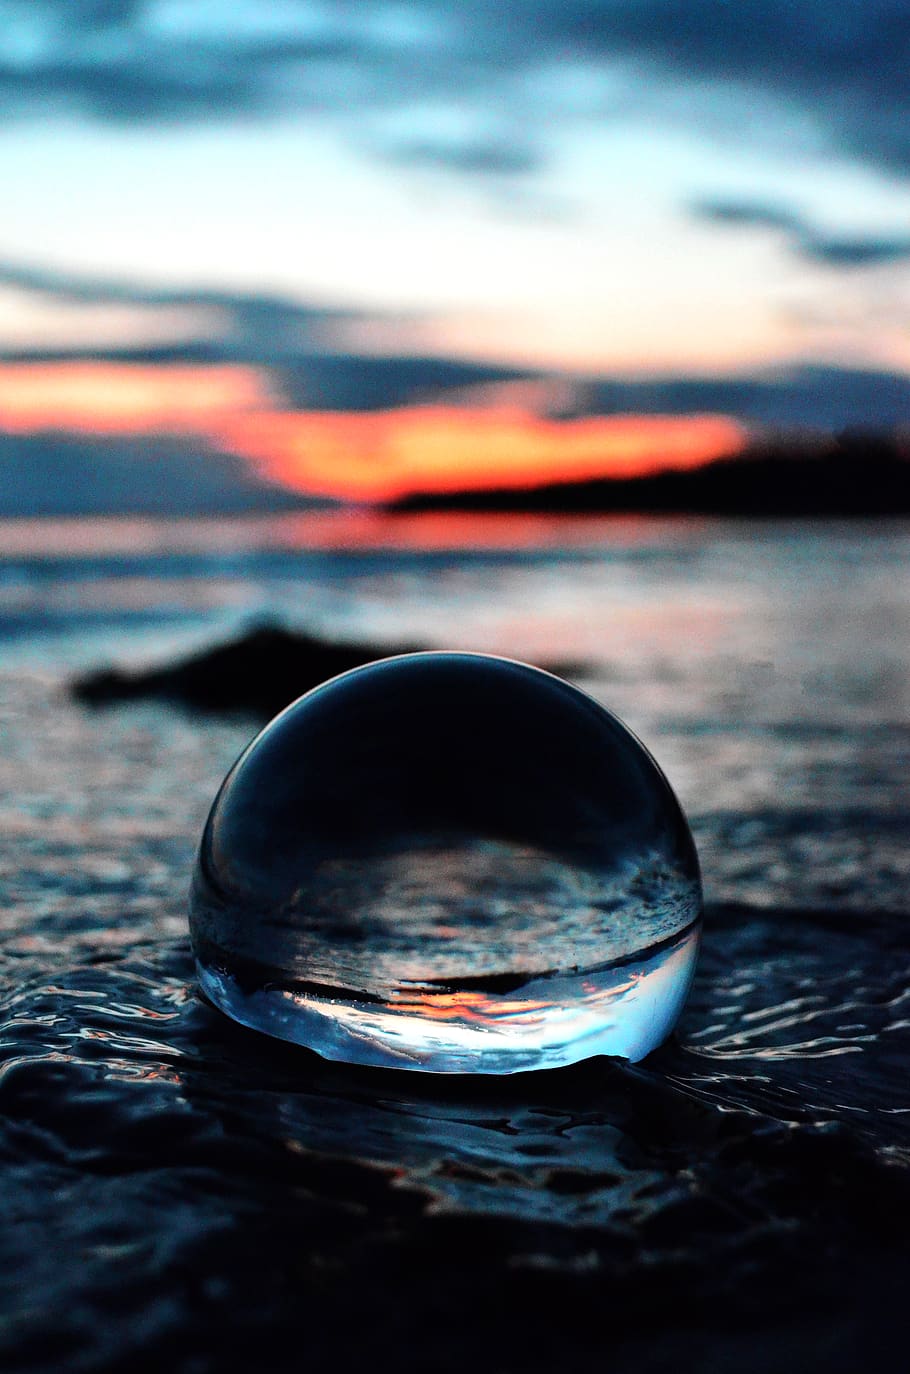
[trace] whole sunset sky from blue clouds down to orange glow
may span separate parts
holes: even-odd
[[[910,420],[903,0],[0,0],[0,462],[320,495]]]

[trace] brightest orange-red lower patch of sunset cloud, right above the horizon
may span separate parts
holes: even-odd
[[[698,467],[738,452],[745,431],[722,415],[543,419],[517,408],[419,405],[367,414],[234,418],[224,444],[272,481],[352,500],[407,492],[533,486]]]

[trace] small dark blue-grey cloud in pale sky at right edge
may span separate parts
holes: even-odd
[[[693,214],[730,228],[781,231],[792,251],[826,267],[877,267],[910,258],[910,234],[829,235],[814,228],[795,210],[760,201],[701,201]]]

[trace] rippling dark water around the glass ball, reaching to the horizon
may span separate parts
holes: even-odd
[[[466,1312],[503,1369],[874,1359],[907,1279],[906,526],[484,522],[487,552],[408,528],[0,532],[4,1369],[243,1367],[290,1337],[455,1369]],[[253,724],[92,713],[66,680],[264,613],[586,665],[702,857],[671,1044],[441,1087],[199,999],[190,868]]]

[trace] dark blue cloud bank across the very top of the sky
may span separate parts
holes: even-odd
[[[526,124],[531,146],[559,118],[553,87],[535,93],[533,78],[557,70],[569,85],[581,67],[592,92],[601,74],[605,89],[608,73],[620,80],[625,113],[726,125],[738,143],[770,137],[775,120],[790,131],[804,121],[817,153],[910,173],[906,0],[285,0],[275,11],[258,0],[0,0],[0,29],[8,113],[63,104],[102,120],[194,121],[311,110],[351,128],[434,100],[481,124],[504,111]],[[668,102],[672,89],[685,99]],[[602,111],[594,96],[591,118]],[[417,133],[390,137],[388,151],[487,176],[536,165],[531,153],[471,157],[470,142],[445,161]]]

